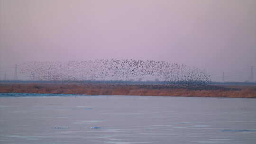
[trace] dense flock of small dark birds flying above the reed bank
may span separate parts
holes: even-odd
[[[174,85],[206,85],[210,75],[184,64],[133,59],[29,62],[20,72],[37,81],[141,81],[151,79]]]

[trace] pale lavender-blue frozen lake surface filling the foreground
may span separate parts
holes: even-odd
[[[256,99],[0,93],[0,144],[256,144]]]

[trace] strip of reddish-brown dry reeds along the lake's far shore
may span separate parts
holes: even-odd
[[[0,84],[0,92],[256,98],[256,85],[176,88],[166,85],[22,83]]]

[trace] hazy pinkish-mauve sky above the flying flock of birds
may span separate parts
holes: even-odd
[[[101,58],[184,63],[216,81],[222,72],[247,80],[250,66],[256,71],[256,0],[0,0],[2,71]]]

